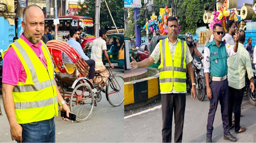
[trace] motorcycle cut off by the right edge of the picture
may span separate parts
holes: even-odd
[[[256,70],[255,70],[255,65],[253,64],[253,61],[251,60],[252,63],[252,68],[253,68],[253,83],[254,83],[254,87],[256,86]],[[253,93],[251,92],[250,89],[250,79],[248,79],[247,73],[245,75],[245,95],[247,95],[250,104],[252,104],[253,106],[256,106],[256,90],[253,91]]]

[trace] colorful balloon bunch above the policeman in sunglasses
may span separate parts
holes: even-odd
[[[229,20],[234,20],[238,29],[241,26],[241,17],[237,15],[234,10],[230,8],[221,7],[218,11],[214,11],[214,18],[210,22],[210,28],[212,30],[213,25],[219,23],[223,26],[224,30],[227,32],[226,25]]]

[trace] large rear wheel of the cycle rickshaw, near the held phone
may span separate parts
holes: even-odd
[[[90,85],[87,83],[77,85],[70,97],[70,111],[76,114],[76,121],[86,121],[92,114],[93,107],[94,95]]]

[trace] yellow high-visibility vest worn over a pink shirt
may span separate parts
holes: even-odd
[[[9,48],[14,48],[27,75],[26,82],[18,82],[12,91],[19,124],[51,119],[54,115],[58,117],[54,64],[47,46],[42,43],[48,70],[23,39],[20,38],[9,45]],[[3,57],[7,50],[2,53]]]

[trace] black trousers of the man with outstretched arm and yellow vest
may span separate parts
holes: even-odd
[[[175,120],[175,143],[181,143],[183,134],[184,114],[186,107],[185,93],[179,94],[161,94],[162,98],[162,116],[163,129],[162,137],[163,143],[171,143],[172,141],[172,115],[174,111]]]

